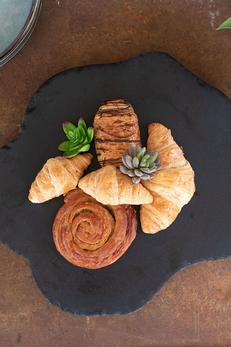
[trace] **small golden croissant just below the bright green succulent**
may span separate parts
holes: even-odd
[[[29,200],[44,202],[74,189],[92,158],[90,153],[84,153],[72,158],[48,159],[30,187]]]

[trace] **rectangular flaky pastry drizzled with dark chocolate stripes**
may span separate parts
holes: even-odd
[[[100,166],[122,164],[129,144],[140,145],[137,116],[125,99],[103,100],[94,119],[94,138]]]

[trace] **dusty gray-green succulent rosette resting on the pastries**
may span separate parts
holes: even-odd
[[[157,158],[157,151],[149,151],[146,153],[145,147],[142,149],[139,145],[133,147],[129,145],[129,154],[124,153],[122,161],[125,166],[121,165],[119,169],[123,174],[132,177],[134,183],[139,183],[142,179],[155,177],[154,171],[162,168],[160,158]]]

